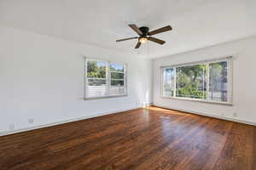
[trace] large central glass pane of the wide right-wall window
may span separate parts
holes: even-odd
[[[192,99],[207,99],[207,65],[177,67],[176,96]]]

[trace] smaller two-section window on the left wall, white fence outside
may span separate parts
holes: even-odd
[[[86,59],[85,99],[126,94],[125,65]]]

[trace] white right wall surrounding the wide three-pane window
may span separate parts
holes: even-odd
[[[227,42],[201,48],[183,54],[174,54],[153,61],[154,105],[183,111],[192,111],[211,116],[224,116],[243,122],[256,122],[256,37]],[[160,96],[160,66],[176,65],[205,59],[234,56],[233,62],[233,103],[216,105],[180,99],[165,99]],[[234,116],[234,112],[237,116]],[[222,115],[224,114],[224,115]]]

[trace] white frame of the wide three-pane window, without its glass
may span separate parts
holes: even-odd
[[[228,62],[228,96],[227,96],[227,101],[214,101],[209,99],[209,72],[210,68],[209,65],[211,63],[217,63],[217,62],[222,62],[222,61],[227,61]],[[166,68],[173,68],[174,71],[176,72],[177,67],[182,67],[182,66],[189,66],[189,65],[207,65],[207,99],[189,99],[189,98],[183,98],[183,97],[176,97],[176,81],[177,81],[177,74],[175,74],[174,77],[174,83],[173,83],[173,89],[174,89],[174,95],[173,96],[166,96],[164,95],[164,70]],[[221,105],[233,105],[233,92],[232,92],[232,87],[233,87],[233,58],[232,56],[230,57],[225,57],[225,58],[220,58],[220,59],[211,59],[211,60],[204,60],[204,61],[198,61],[198,62],[193,62],[193,63],[186,63],[186,64],[181,64],[181,65],[166,65],[166,66],[160,66],[160,95],[162,98],[168,98],[168,99],[183,99],[183,100],[190,100],[190,101],[199,101],[199,102],[207,102],[207,103],[212,103],[212,104],[221,104]]]

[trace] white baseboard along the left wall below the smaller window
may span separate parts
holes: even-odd
[[[35,130],[35,129],[39,129],[39,128],[52,127],[52,126],[61,125],[61,124],[68,123],[68,122],[82,121],[82,120],[90,119],[90,118],[97,117],[97,116],[105,116],[105,115],[110,115],[110,114],[119,113],[119,112],[123,112],[123,111],[131,111],[131,110],[135,110],[135,109],[139,109],[139,108],[141,108],[141,107],[128,108],[125,110],[101,112],[101,113],[97,113],[95,115],[83,116],[83,117],[69,119],[69,120],[61,121],[61,122],[53,122],[53,123],[34,126],[34,127],[26,127],[26,128],[11,130],[11,131],[3,131],[3,132],[0,132],[0,136],[6,136],[9,134],[15,134],[15,133],[23,133],[23,132],[27,132],[27,131],[31,131],[31,130]]]

